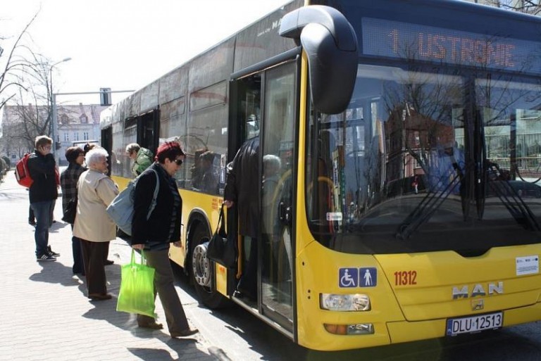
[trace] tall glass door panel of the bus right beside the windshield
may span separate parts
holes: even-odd
[[[266,72],[261,136],[261,303],[263,312],[287,329],[293,320],[295,82],[294,63]]]

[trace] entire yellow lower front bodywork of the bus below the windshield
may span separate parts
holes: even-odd
[[[309,234],[304,237],[307,239]],[[533,322],[541,319],[541,275],[517,276],[516,258],[540,253],[540,245],[529,245],[496,248],[475,258],[463,258],[450,251],[353,255],[331,251],[313,241],[297,258],[299,343],[318,350],[340,350],[438,338],[445,336],[448,318],[498,311],[504,312],[504,327]],[[375,267],[377,285],[340,288],[341,267]],[[409,271],[416,271],[415,284],[397,286],[397,275]],[[503,292],[489,294],[488,284],[500,281]],[[453,299],[453,287],[464,286],[469,296]],[[486,295],[471,296],[475,286]],[[371,310],[321,310],[321,293],[366,294]],[[479,300],[483,300],[483,309],[473,310]],[[374,334],[339,336],[323,327],[363,323],[373,324]]]

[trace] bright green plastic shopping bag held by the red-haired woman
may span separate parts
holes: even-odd
[[[139,315],[156,317],[154,314],[154,268],[146,265],[144,252],[141,251],[141,263],[135,262],[132,249],[132,261],[121,268],[120,292],[116,310]]]

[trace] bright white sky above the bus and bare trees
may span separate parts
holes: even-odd
[[[55,67],[55,93],[139,89],[288,2],[0,0],[0,37],[18,35],[39,11],[30,46],[52,62],[72,58]],[[125,95],[113,94],[113,103]],[[99,103],[95,97],[58,101]]]

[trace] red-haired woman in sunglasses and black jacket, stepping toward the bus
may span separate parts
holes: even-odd
[[[198,332],[190,329],[180,298],[175,290],[173,270],[169,261],[169,246],[180,247],[180,221],[182,217],[182,198],[178,193],[175,173],[180,170],[184,152],[175,141],[166,142],[156,151],[156,162],[145,170],[137,181],[134,196],[134,215],[132,222],[132,247],[144,250],[147,265],[153,267],[154,294],[158,293],[166,314],[166,322],[171,337],[191,336]],[[147,220],[156,175],[159,179],[156,206]],[[162,329],[152,317],[137,315],[139,327]]]

